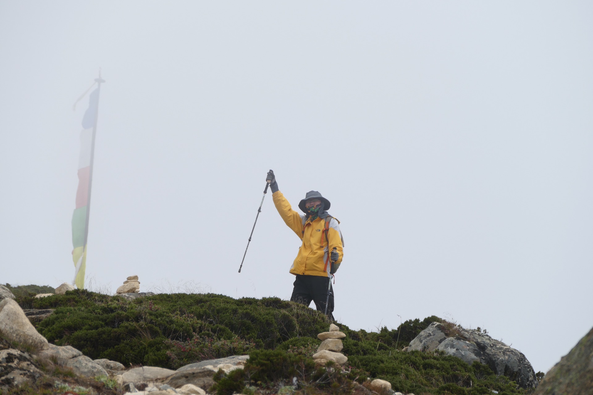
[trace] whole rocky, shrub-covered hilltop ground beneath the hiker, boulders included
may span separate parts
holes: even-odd
[[[139,284],[137,280],[129,278],[124,285],[136,287],[136,283]],[[206,391],[218,395],[241,392],[246,395],[318,395],[328,391],[336,395],[400,394],[392,389],[392,383],[395,383],[395,389],[407,388],[407,394],[413,390],[418,395],[529,394],[540,378],[534,374],[527,358],[516,349],[492,339],[485,331],[465,329],[438,317],[430,317],[435,319],[432,323],[429,318],[422,323],[419,320],[406,322],[404,324],[407,326],[397,331],[384,328],[378,333],[366,333],[342,325],[340,329],[333,323],[324,324],[327,322],[324,316],[317,317],[311,309],[277,298],[257,301],[234,300],[216,295],[155,296],[139,293],[137,287],[135,292],[111,297],[71,290],[68,284],[56,288],[55,294],[19,297],[19,303],[27,307],[25,310],[14,298],[10,290],[0,285],[2,395],[205,394]],[[180,310],[184,312],[179,313]],[[286,315],[288,312],[290,314]],[[250,320],[237,326],[237,314]],[[203,321],[196,317],[203,317]],[[104,326],[101,320],[117,320],[118,323]],[[127,322],[132,324],[127,327],[138,329],[139,332],[127,335],[126,331],[126,336],[132,337],[120,337],[121,340],[115,342],[109,340],[115,339],[110,338],[113,335],[109,333],[116,334],[119,331],[118,336],[121,336],[122,325]],[[186,326],[190,330],[189,335],[193,332],[193,339],[187,338],[188,335],[187,341],[162,337],[161,332],[155,332],[158,327],[154,324],[158,322]],[[205,327],[206,322],[212,324]],[[111,345],[99,349],[107,350],[107,354],[103,354],[106,351],[95,351],[98,344],[94,345],[97,342],[92,334],[94,332],[85,332],[89,324],[96,328],[104,326],[101,336]],[[324,325],[328,325],[325,330]],[[51,339],[61,339],[59,343],[56,342],[61,345],[48,342],[36,326],[43,330],[42,333],[53,336]],[[293,332],[283,332],[291,326],[294,326],[291,329]],[[162,362],[157,362],[160,366],[147,366],[149,363],[144,366],[130,365],[130,361],[125,361],[128,354],[113,352],[115,349],[112,347],[122,341],[132,341],[130,345],[142,346],[142,333],[147,333],[142,330],[148,327],[152,327],[150,336],[153,339],[154,336],[161,336],[158,339],[162,340],[152,340],[153,351],[136,355],[151,357],[166,351],[171,359],[160,359]],[[217,331],[227,330],[229,335],[235,333],[235,340],[213,342],[215,338],[196,335],[197,328],[209,331],[215,327],[219,328]],[[247,328],[251,329],[244,332]],[[317,330],[311,332],[313,328]],[[59,332],[55,332],[56,329]],[[407,339],[405,343],[409,343],[403,350],[401,330],[411,331],[403,333],[403,338]],[[248,336],[252,336],[251,333],[264,332],[271,346],[260,343],[254,348],[255,343],[246,341]],[[61,333],[61,337],[56,337],[56,333]],[[410,336],[410,333],[413,335]],[[240,338],[236,334],[246,337]],[[282,336],[288,340],[283,342]],[[590,380],[588,384],[583,384],[591,377],[591,367],[586,365],[586,361],[593,357],[591,338],[593,335],[589,333],[588,338],[581,341],[550,371],[538,388],[538,394],[593,393]],[[69,340],[65,342],[65,339]],[[219,355],[230,355],[225,358],[203,358],[200,352],[213,350],[200,348],[205,341],[213,342],[212,347],[238,346],[249,355],[227,353]],[[79,349],[68,345],[76,345],[77,342],[81,345]],[[397,347],[398,342],[400,348]],[[199,348],[192,351],[191,348],[195,346]],[[95,355],[95,359],[83,355],[79,350],[85,350],[84,354],[87,355]],[[132,351],[133,348],[128,350]],[[112,359],[119,359],[127,366],[106,358],[97,359],[101,355],[115,355]],[[189,355],[193,357],[188,358]],[[189,363],[196,360],[200,362]],[[368,379],[369,376],[371,378]],[[509,381],[509,378],[518,385]]]

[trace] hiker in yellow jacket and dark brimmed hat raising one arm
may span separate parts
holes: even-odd
[[[270,182],[274,205],[280,217],[302,240],[297,258],[292,262],[290,272],[297,278],[294,282],[291,300],[309,306],[311,300],[319,311],[326,311],[327,289],[331,287],[331,275],[337,270],[343,258],[343,240],[339,223],[327,209],[330,201],[317,191],[309,191],[298,207],[305,213],[292,210],[291,204],[278,190],[273,171],[266,181]],[[328,256],[329,253],[329,256]],[[333,319],[333,288],[330,288],[327,313]]]

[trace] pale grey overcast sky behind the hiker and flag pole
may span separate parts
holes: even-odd
[[[435,314],[547,371],[593,326],[593,3],[0,1],[0,282],[288,299],[293,207],[341,221],[334,315]]]

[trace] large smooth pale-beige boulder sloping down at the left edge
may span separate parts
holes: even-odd
[[[46,349],[47,339],[37,332],[18,303],[11,298],[0,301],[0,333],[10,341]]]

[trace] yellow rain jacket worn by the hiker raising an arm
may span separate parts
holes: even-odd
[[[338,259],[334,264],[340,264],[343,258],[340,222],[333,217],[327,217],[330,220],[327,232],[328,249],[325,232],[326,220],[319,217],[314,221],[307,219],[303,225],[306,216],[292,210],[291,204],[288,203],[282,192],[274,192],[272,198],[280,217],[302,240],[302,245],[298,250],[297,258],[292,262],[290,272],[295,275],[330,277],[331,262],[327,258],[327,252],[336,248]]]

